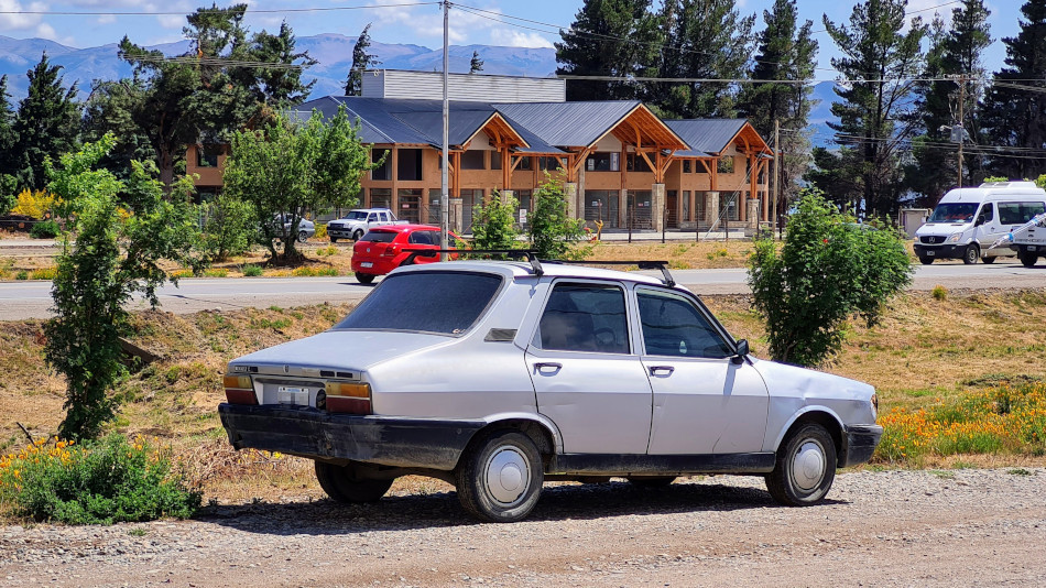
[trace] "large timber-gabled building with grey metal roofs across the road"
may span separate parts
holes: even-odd
[[[373,161],[388,152],[384,163],[363,178],[360,205],[438,224],[443,102],[403,96],[418,94],[417,88],[407,91],[405,81],[431,84],[442,75],[410,74],[364,75],[364,80],[377,78],[370,86],[364,81],[364,96],[318,98],[291,116],[331,117],[345,108],[359,121],[360,139],[373,144]],[[449,105],[450,218],[458,231],[470,230],[472,208],[493,195],[514,197],[525,225],[534,190],[546,175],[562,183],[571,216],[609,229],[711,229],[730,222],[754,228],[769,219],[772,152],[745,120],[663,121],[635,100],[566,102],[547,79],[538,85],[512,78],[511,87],[490,90],[484,101],[475,99],[471,76],[457,77],[462,79],[456,80],[456,91],[470,98]],[[477,87],[487,88],[497,81],[489,78],[499,77],[504,76],[484,76]],[[380,96],[373,95],[375,88]],[[520,96],[543,100],[511,99]],[[204,172],[201,192],[220,187],[224,155],[218,151],[208,155],[203,145],[189,146],[187,171]]]

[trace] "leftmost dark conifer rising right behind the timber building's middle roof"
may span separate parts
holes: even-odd
[[[557,75],[622,78],[570,79],[567,100],[628,100],[643,85],[628,78],[657,73],[661,31],[651,0],[585,0],[570,29],[556,43]]]

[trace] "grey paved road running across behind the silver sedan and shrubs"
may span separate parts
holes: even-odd
[[[644,272],[660,275],[658,272]],[[675,270],[675,280],[698,294],[743,294],[745,270]],[[1046,264],[1024,268],[999,262],[992,265],[941,263],[916,269],[913,290],[931,290],[940,284],[949,290],[1046,286]],[[216,277],[183,279],[178,287],[166,285],[159,292],[164,311],[185,314],[205,309],[299,306],[323,302],[362,298],[373,288],[353,277]],[[0,320],[50,316],[51,282],[0,282]],[[135,303],[144,308],[144,303]]]

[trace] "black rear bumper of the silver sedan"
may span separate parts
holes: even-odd
[[[483,421],[328,414],[302,406],[218,405],[237,449],[449,471]]]

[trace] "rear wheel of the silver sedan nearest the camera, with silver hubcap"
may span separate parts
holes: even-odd
[[[509,429],[478,439],[456,475],[461,507],[490,523],[525,519],[537,504],[545,479],[534,442]]]

